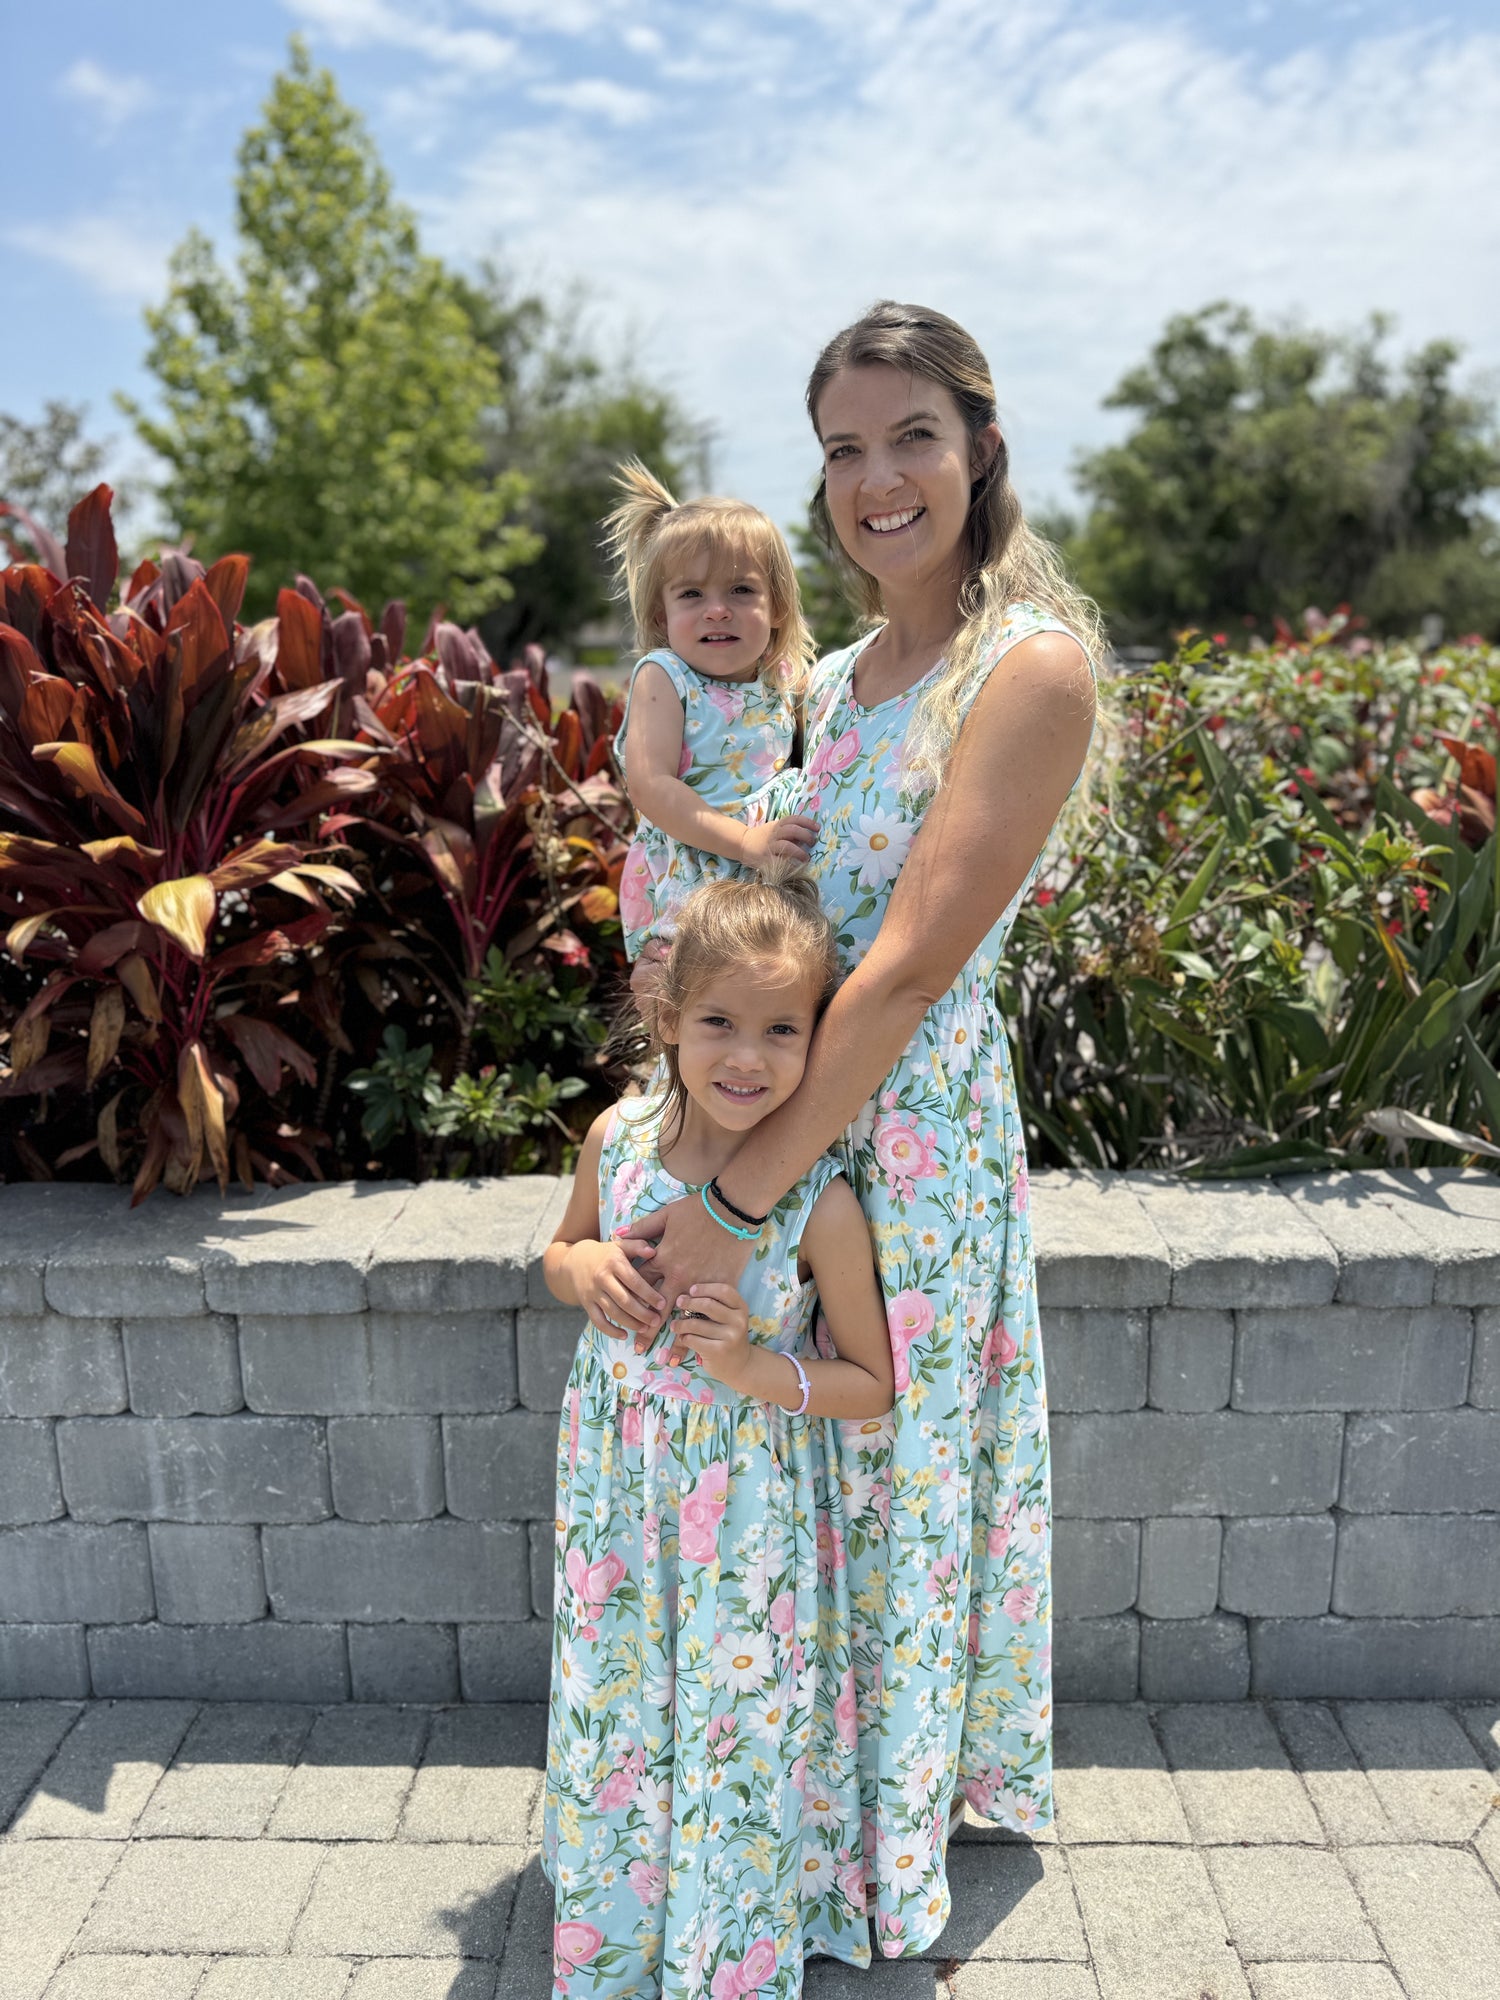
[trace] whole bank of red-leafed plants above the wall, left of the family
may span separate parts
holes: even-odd
[[[554,714],[540,652],[442,620],[406,660],[404,606],[304,576],[238,626],[238,556],[166,552],[106,612],[108,500],[0,572],[0,1176],[566,1162],[620,966],[618,702],[580,674]],[[432,1116],[374,1114],[370,1062]]]

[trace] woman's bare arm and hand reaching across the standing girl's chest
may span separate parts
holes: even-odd
[[[1078,776],[1094,720],[1082,648],[1038,632],[1000,660],[970,710],[884,922],[818,1024],[798,1090],[718,1176],[736,1208],[766,1214],[848,1126],[1026,880]],[[696,1212],[694,1212],[696,1208]],[[648,1266],[674,1298],[736,1278],[746,1250],[696,1204],[646,1216]]]

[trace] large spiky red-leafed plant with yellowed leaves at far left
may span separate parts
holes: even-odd
[[[378,758],[308,736],[332,682],[268,692],[268,634],[234,624],[242,556],[142,564],[106,616],[116,564],[100,486],[68,520],[66,576],[0,574],[0,910],[10,958],[42,974],[0,1096],[118,1076],[58,1164],[130,1156],[140,1200],[206,1170],[222,1186],[236,1166],[314,1166],[306,1134],[242,1114],[246,1070],[274,1094],[284,1066],[314,1068],[246,1000],[328,926],[328,890],[358,890],[318,820],[376,786]],[[46,1170],[34,1140],[14,1144]]]

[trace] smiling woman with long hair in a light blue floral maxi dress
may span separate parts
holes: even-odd
[[[720,1182],[766,1216],[842,1136],[876,1240],[898,1398],[842,1426],[842,1472],[866,1872],[898,1958],[948,1918],[960,1798],[1016,1830],[1050,1818],[1046,1394],[994,970],[1088,750],[1100,628],[1022,520],[990,370],[952,320],[874,306],[824,348],[808,414],[816,512],[884,616],[816,670],[778,800],[818,820],[846,978],[802,1088]],[[656,1232],[666,1300],[744,1264],[702,1204],[636,1230]]]

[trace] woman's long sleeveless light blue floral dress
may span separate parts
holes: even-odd
[[[986,670],[1046,630],[1066,628],[1014,604]],[[768,808],[820,822],[812,868],[844,974],[874,942],[930,804],[900,786],[924,682],[862,708],[860,644],[816,668],[806,768],[778,782]],[[896,1358],[894,1414],[836,1426],[872,1918],[892,1958],[920,1952],[948,1918],[954,1786],[1018,1832],[1052,1816],[1046,1386],[1026,1154],[994,1002],[996,960],[1034,874],[842,1148]]]

